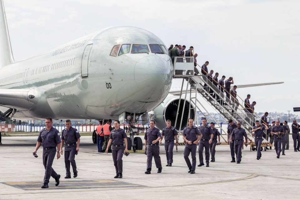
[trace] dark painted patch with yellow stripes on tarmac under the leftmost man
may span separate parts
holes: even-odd
[[[42,189],[41,182],[3,182],[2,184],[16,187],[22,190],[39,190]],[[56,187],[55,183],[50,182],[48,189],[96,189],[96,188],[144,188],[147,186],[126,183],[115,180],[82,180],[82,181],[61,181],[59,186]]]

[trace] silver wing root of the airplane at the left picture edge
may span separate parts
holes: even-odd
[[[26,111],[37,103],[38,96],[39,94],[35,88],[0,89],[0,105]]]

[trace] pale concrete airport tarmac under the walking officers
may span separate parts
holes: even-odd
[[[220,145],[216,162],[187,173],[184,146],[174,147],[174,163],[165,167],[164,147],[160,147],[163,172],[144,174],[146,155],[130,153],[123,157],[123,178],[114,179],[111,153],[97,153],[90,136],[81,137],[76,156],[78,177],[64,179],[64,159],[55,159],[53,168],[61,175],[58,187],[50,178],[49,188],[41,189],[44,168],[42,148],[32,156],[37,137],[2,137],[0,146],[0,199],[299,199],[299,157],[292,136],[285,156],[274,150],[262,151],[261,160],[250,147],[242,151],[241,164],[230,163],[229,146]],[[199,158],[197,153],[197,164]]]

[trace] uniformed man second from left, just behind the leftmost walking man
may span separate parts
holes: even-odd
[[[63,144],[65,143],[65,178],[71,178],[70,163],[73,169],[73,177],[76,178],[78,172],[75,162],[75,154],[76,152],[79,152],[80,134],[76,128],[71,126],[71,120],[66,120],[65,125],[66,128],[62,131],[62,145],[60,147],[60,152],[63,154]]]

